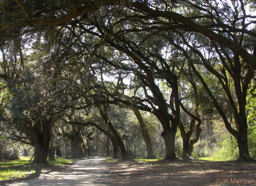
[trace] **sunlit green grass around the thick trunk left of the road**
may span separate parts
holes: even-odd
[[[42,172],[50,171],[61,165],[68,165],[78,159],[65,159],[56,156],[56,161],[48,161],[48,164],[32,164],[29,162],[31,156],[21,156],[19,160],[0,162],[0,181],[14,180],[31,175],[40,175]]]

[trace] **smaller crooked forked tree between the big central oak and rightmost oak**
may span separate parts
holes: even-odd
[[[199,140],[204,120],[214,119],[217,114],[203,87],[198,86],[199,81],[189,65],[183,67],[182,74],[184,77],[180,80],[180,106],[185,116],[183,114],[180,119],[179,130],[183,142],[183,157],[187,157],[191,156],[193,147]]]

